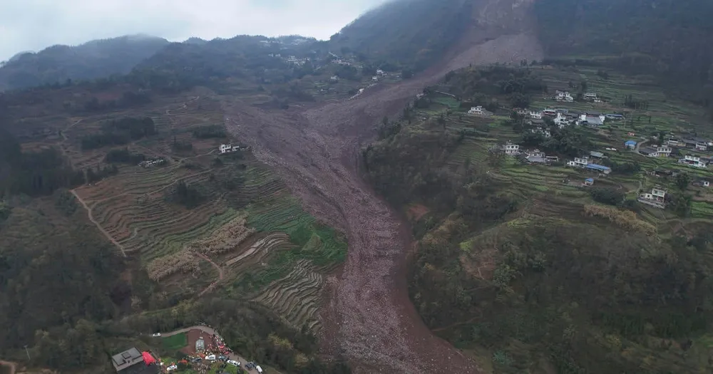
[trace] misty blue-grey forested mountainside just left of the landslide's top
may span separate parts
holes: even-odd
[[[335,52],[423,70],[443,56],[471,21],[473,1],[397,0],[373,9],[331,38]]]

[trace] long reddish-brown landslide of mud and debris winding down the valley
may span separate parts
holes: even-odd
[[[470,63],[541,58],[536,38],[516,18],[528,4],[478,5],[473,29],[439,66],[412,80],[377,85],[356,100],[308,110],[265,112],[224,103],[231,132],[280,172],[307,209],[349,235],[344,270],[327,282],[322,343],[327,353],[349,358],[356,373],[479,372],[416,314],[404,277],[409,229],[356,172],[359,145],[371,137],[372,125],[399,113],[424,85]]]

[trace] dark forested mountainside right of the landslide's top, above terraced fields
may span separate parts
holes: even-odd
[[[711,1],[540,0],[535,11],[550,57],[608,55],[618,68],[687,83],[695,93],[705,88],[711,97]]]

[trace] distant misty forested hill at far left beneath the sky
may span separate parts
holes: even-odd
[[[120,36],[24,53],[0,67],[0,90],[125,74],[167,44],[155,36]]]

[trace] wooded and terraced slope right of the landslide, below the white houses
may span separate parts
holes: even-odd
[[[411,219],[416,309],[486,373],[708,372],[713,238],[701,221],[667,213],[685,227],[672,232],[664,213],[625,200],[619,178],[636,174],[638,161],[587,189],[569,182],[586,173],[500,151],[497,141],[511,140],[577,157],[614,133],[644,131],[612,124],[603,135],[546,120],[548,137],[540,137],[511,108],[548,91],[543,74],[501,66],[449,73],[400,118],[384,119],[379,140],[364,148],[372,184]],[[468,115],[474,105],[491,113]]]

